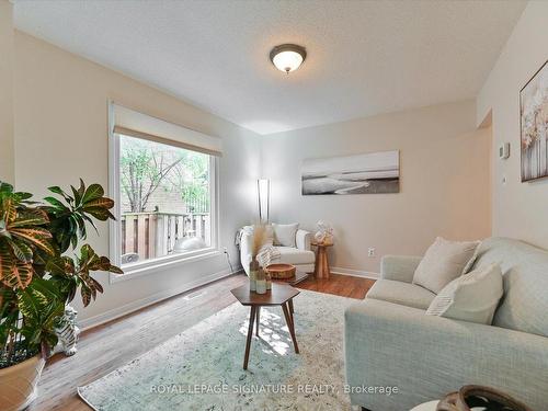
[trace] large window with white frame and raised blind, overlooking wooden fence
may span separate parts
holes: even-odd
[[[218,253],[220,139],[110,107],[110,190],[116,203],[111,256],[123,277]]]

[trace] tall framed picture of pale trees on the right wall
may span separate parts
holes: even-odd
[[[548,61],[520,92],[522,182],[548,176]]]

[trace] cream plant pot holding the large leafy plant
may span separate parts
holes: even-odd
[[[36,399],[36,386],[45,364],[45,359],[36,355],[0,369],[0,410],[23,410]]]

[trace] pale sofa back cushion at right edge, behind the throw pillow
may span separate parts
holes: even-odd
[[[504,285],[493,326],[548,336],[548,252],[490,238],[480,244],[472,269],[492,263],[501,266]]]

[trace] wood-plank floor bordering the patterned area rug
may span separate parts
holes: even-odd
[[[78,386],[101,378],[228,307],[236,301],[230,289],[246,281],[243,274],[232,275],[83,332],[75,356],[57,354],[48,361],[38,386],[38,399],[30,410],[91,410],[78,397]],[[309,278],[297,287],[364,298],[374,283],[332,274],[330,279]]]

